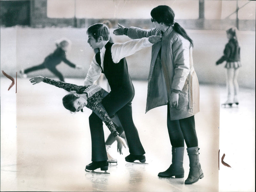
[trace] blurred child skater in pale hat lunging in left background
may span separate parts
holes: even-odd
[[[35,71],[35,70],[40,70],[40,69],[45,69],[47,68],[50,70],[54,75],[56,75],[60,81],[64,82],[63,75],[56,69],[56,66],[63,61],[64,63],[67,63],[70,67],[76,68],[76,69],[82,69],[82,66],[80,65],[75,65],[74,63],[71,63],[68,61],[66,58],[66,52],[70,48],[71,41],[68,39],[60,39],[56,42],[57,48],[54,50],[53,53],[45,57],[44,62],[42,64],[30,67],[28,69],[22,69],[20,70],[20,75],[23,78],[27,77],[27,73]]]

